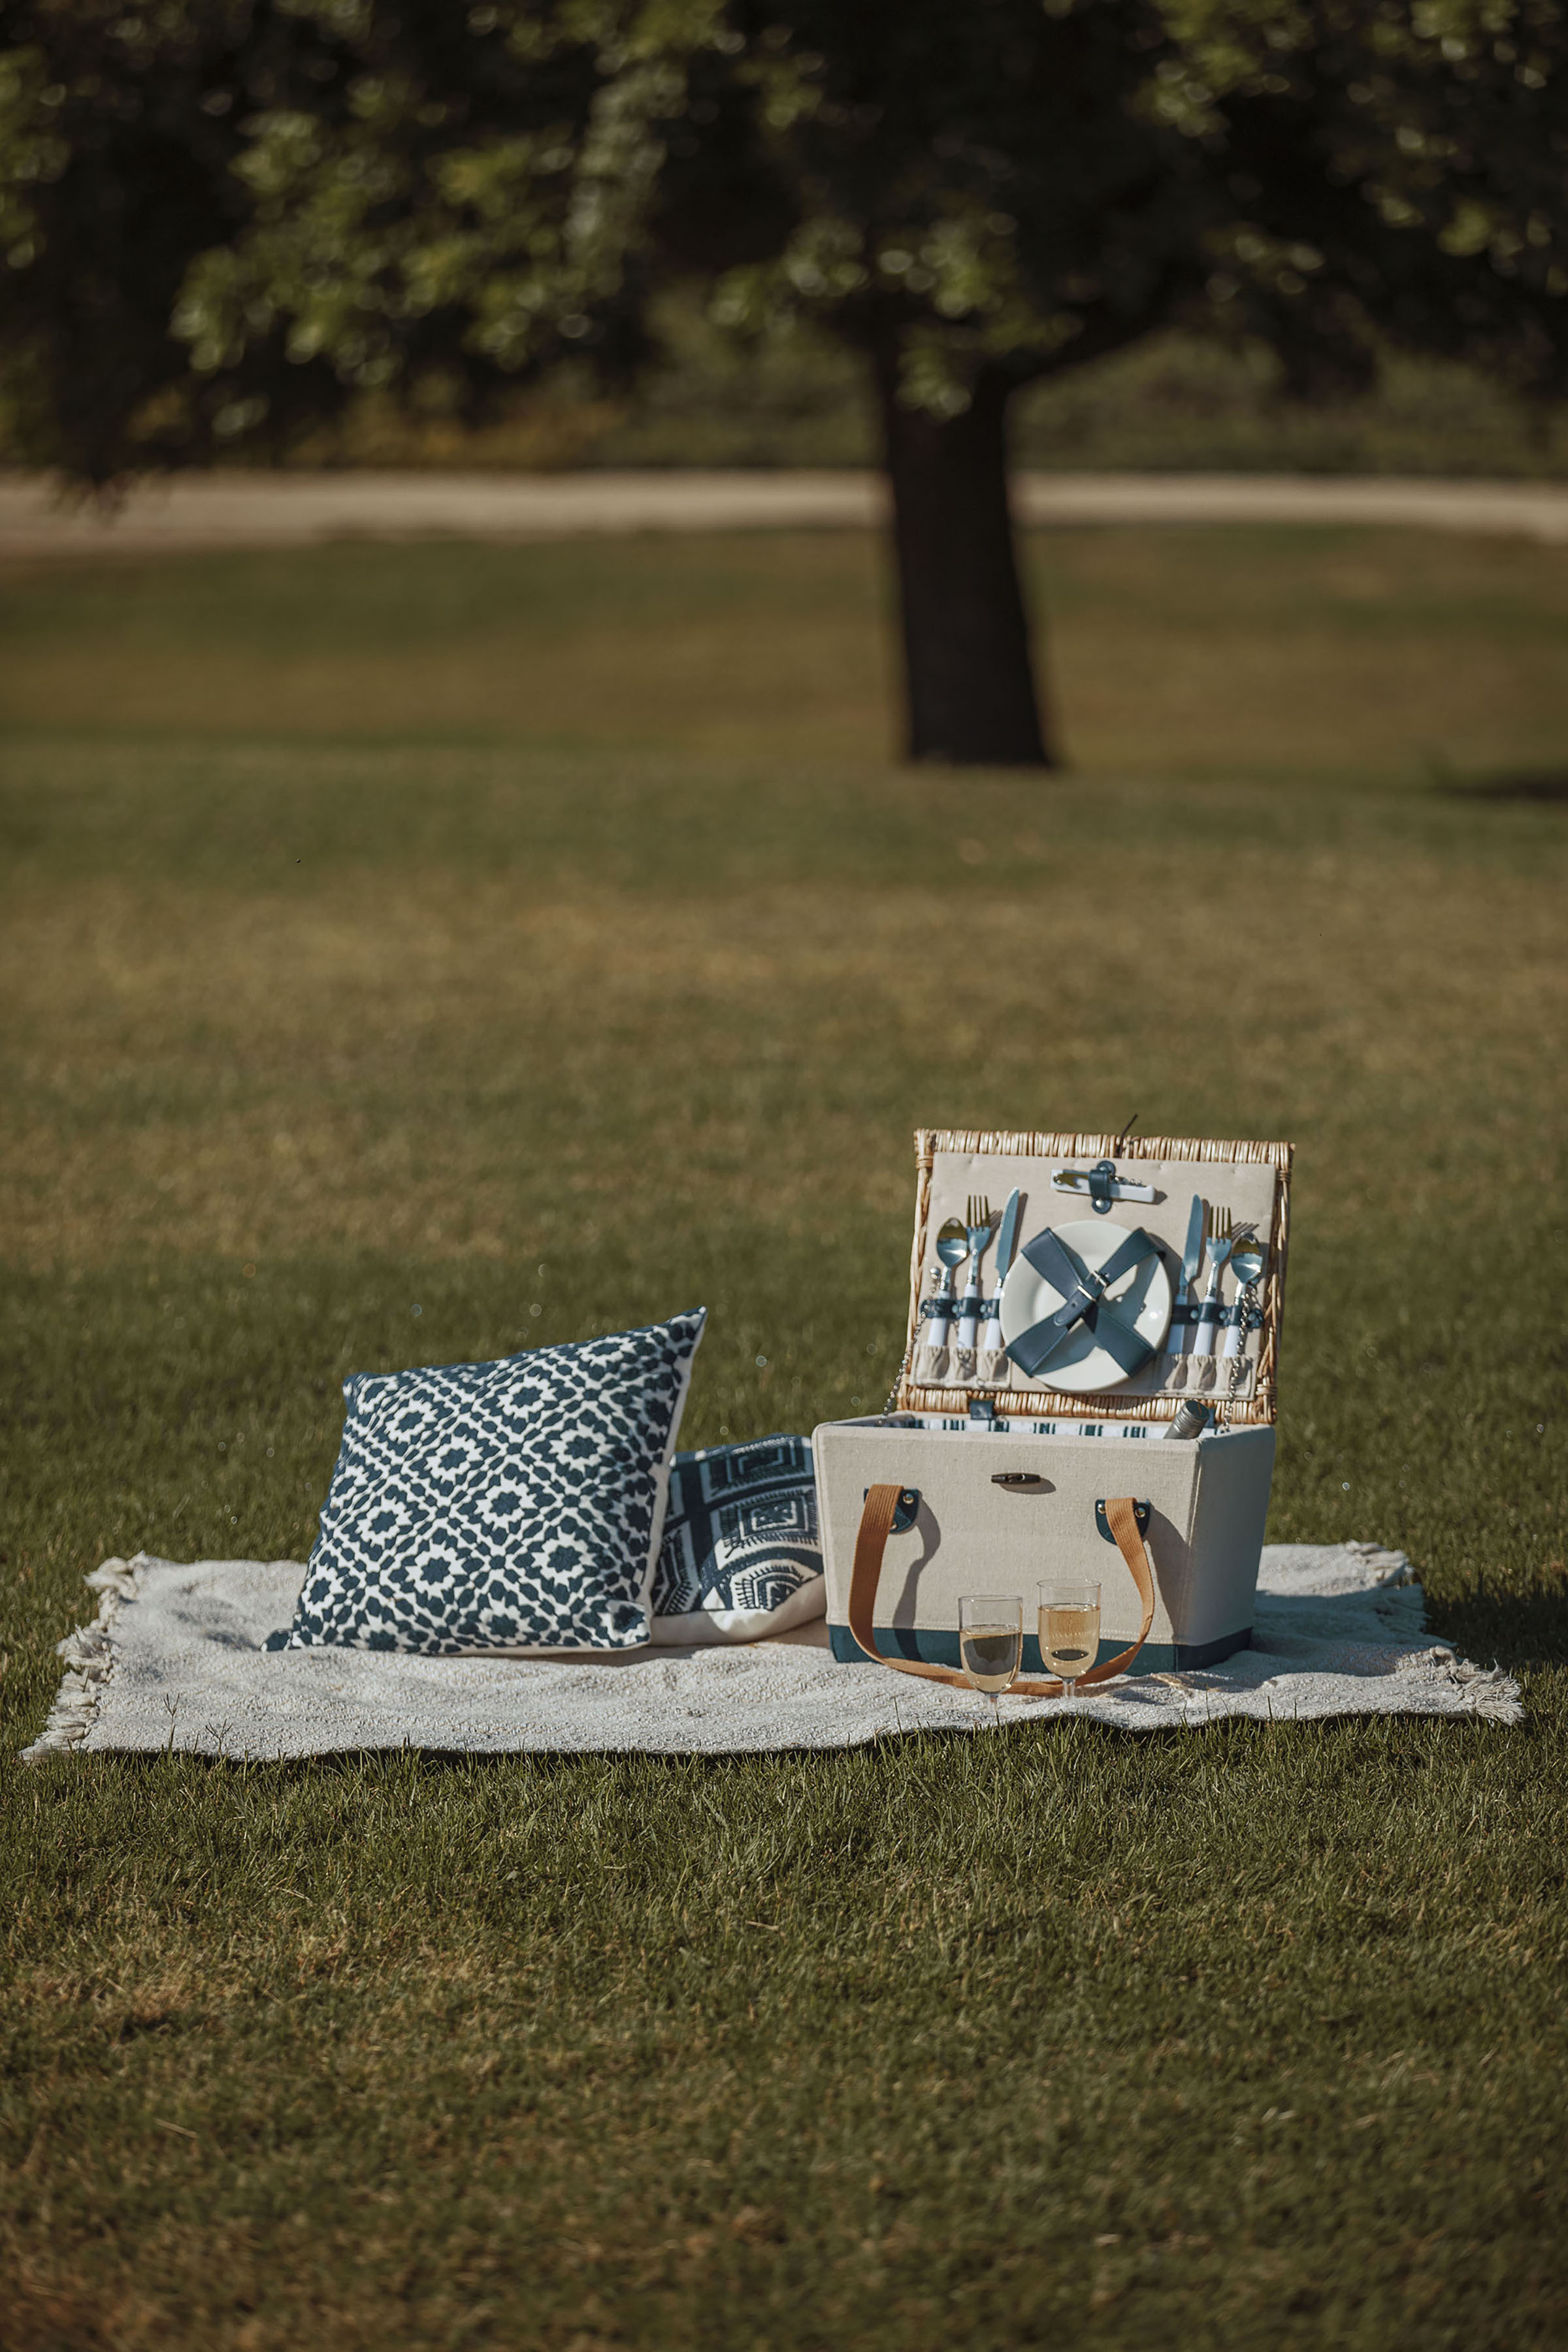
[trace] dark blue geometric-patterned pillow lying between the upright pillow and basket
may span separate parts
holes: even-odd
[[[677,1454],[654,1571],[654,1639],[759,1642],[825,1611],[811,1439]]]

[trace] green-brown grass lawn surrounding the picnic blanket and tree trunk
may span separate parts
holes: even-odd
[[[1051,781],[886,762],[849,534],[0,576],[5,2352],[1568,2336],[1568,550],[1032,567]],[[1272,1534],[1523,1729],[14,1764],[346,1371],[703,1301],[809,1430],[914,1124],[1133,1110],[1295,1138]]]

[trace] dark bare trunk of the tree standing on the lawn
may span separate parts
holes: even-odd
[[[945,423],[898,400],[877,353],[912,760],[1056,767],[1041,727],[1006,496],[1011,383],[980,374]]]

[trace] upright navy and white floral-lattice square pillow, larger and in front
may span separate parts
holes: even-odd
[[[273,1649],[637,1649],[705,1310],[498,1364],[343,1381],[348,1418]]]

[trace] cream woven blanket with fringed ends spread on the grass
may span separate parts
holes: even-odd
[[[616,1750],[736,1755],[856,1748],[898,1731],[987,1731],[985,1698],[837,1665],[820,1623],[745,1649],[621,1658],[402,1658],[266,1651],[303,1569],[292,1559],[106,1559],[87,1583],[99,1618],[61,1642],[66,1675],[26,1755],[158,1748],[310,1757],[353,1748],[465,1755]],[[1060,1698],[1004,1698],[1001,1724],[1060,1715]],[[1143,1675],[1072,1703],[1119,1731],[1225,1715],[1523,1717],[1519,1684],[1422,1632],[1403,1552],[1274,1543],[1258,1576],[1253,1646],[1190,1675]]]

